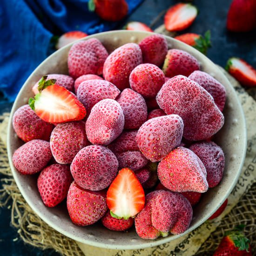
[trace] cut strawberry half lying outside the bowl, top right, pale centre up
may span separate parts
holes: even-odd
[[[189,27],[196,16],[195,6],[178,3],[167,10],[164,16],[164,26],[168,31],[180,31]]]

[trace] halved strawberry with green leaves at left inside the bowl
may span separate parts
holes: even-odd
[[[28,101],[29,106],[42,120],[51,123],[84,119],[86,109],[76,96],[66,88],[55,84],[55,79],[43,76],[39,82],[39,94]]]

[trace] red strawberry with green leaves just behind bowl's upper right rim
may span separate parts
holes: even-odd
[[[210,31],[206,31],[204,38],[200,34],[186,33],[182,35],[175,36],[175,39],[182,41],[188,45],[193,46],[195,49],[200,51],[202,54],[207,54],[207,50],[211,47],[211,34]]]

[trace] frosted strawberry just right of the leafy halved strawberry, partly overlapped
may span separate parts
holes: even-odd
[[[113,99],[119,95],[120,90],[112,83],[105,80],[83,81],[77,90],[77,98],[83,103],[88,115],[92,107],[101,100]]]

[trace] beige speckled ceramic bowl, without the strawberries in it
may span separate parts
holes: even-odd
[[[151,33],[148,32],[113,31],[91,35],[84,40],[95,37],[101,40],[110,53],[116,47],[125,43],[139,43],[143,38],[150,34]],[[205,222],[209,216],[218,209],[235,186],[243,166],[246,152],[246,128],[243,110],[236,93],[219,68],[194,48],[170,37],[166,37],[166,39],[168,40],[169,48],[182,49],[195,56],[200,62],[202,70],[214,76],[227,90],[227,101],[223,112],[225,116],[225,124],[218,133],[216,141],[225,153],[226,166],[224,177],[222,182],[216,188],[209,189],[209,191],[202,196],[202,200],[194,210],[192,223],[189,229],[184,233],[186,234]],[[13,113],[20,106],[27,104],[28,98],[33,96],[31,88],[43,75],[50,73],[68,74],[67,54],[70,47],[71,45],[61,48],[43,61],[29,76],[23,87],[20,89],[20,93],[13,104],[8,125],[7,148],[13,177],[21,194],[34,212],[40,216],[42,220],[47,222],[48,225],[63,235],[81,243],[110,249],[139,249],[166,243],[184,235],[169,235],[152,241],[141,239],[137,236],[135,229],[132,229],[129,232],[120,233],[105,229],[100,224],[94,224],[87,227],[75,226],[69,219],[64,204],[55,208],[47,208],[44,206],[37,190],[35,176],[21,175],[14,168],[12,155],[15,149],[22,145],[22,141],[15,135],[12,127]]]

